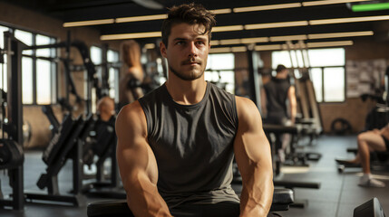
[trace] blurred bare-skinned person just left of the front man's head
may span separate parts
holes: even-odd
[[[128,68],[119,83],[119,109],[143,96],[141,83],[144,79],[141,67],[141,47],[138,42],[128,40],[122,43],[122,61]]]

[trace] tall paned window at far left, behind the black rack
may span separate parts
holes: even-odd
[[[5,31],[14,33],[15,38],[27,45],[43,45],[55,42],[55,39],[42,34],[26,32],[13,27],[0,26],[0,46],[4,48]],[[22,52],[22,99],[23,104],[43,105],[56,102],[56,63],[50,58],[56,56],[55,49],[25,50]],[[6,87],[6,66],[3,66],[3,82]]]

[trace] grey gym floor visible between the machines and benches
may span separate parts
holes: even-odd
[[[301,141],[306,144],[305,140]],[[353,216],[354,208],[366,201],[377,197],[384,208],[386,215],[389,214],[389,171],[374,171],[386,184],[382,188],[363,188],[357,185],[361,169],[346,169],[343,174],[337,171],[335,158],[338,156],[351,158],[353,154],[347,153],[347,147],[356,147],[356,137],[322,136],[314,141],[314,145],[305,146],[305,151],[322,153],[317,162],[309,162],[309,167],[284,167],[282,177],[285,180],[320,182],[320,189],[295,189],[295,199],[305,200],[305,208],[290,208],[287,212],[278,212],[284,217],[344,217]],[[36,181],[45,170],[41,159],[41,151],[27,151],[24,161],[24,191],[38,191]],[[62,193],[66,193],[72,186],[71,161],[69,161],[60,173],[58,179]],[[2,190],[5,195],[11,193],[6,173],[1,173]],[[234,185],[237,193],[241,186]],[[87,203],[107,200],[107,198],[87,198]],[[63,216],[86,216],[86,207],[77,208],[64,205],[26,203],[24,211],[0,210],[2,217],[63,217]]]

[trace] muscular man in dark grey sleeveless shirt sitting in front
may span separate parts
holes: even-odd
[[[168,80],[117,118],[118,164],[135,216],[267,216],[273,171],[258,109],[204,80],[214,24],[200,5],[172,7],[160,42]],[[240,203],[230,185],[234,153]]]

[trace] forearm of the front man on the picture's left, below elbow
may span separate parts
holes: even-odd
[[[138,179],[128,182],[127,203],[135,216],[171,216],[168,205],[150,180]]]

